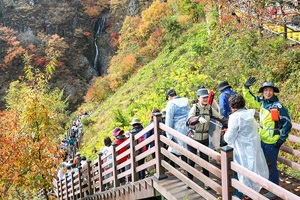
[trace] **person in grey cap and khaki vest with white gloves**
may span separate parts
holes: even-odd
[[[218,111],[208,104],[208,90],[206,88],[200,88],[197,90],[198,103],[193,104],[187,120],[187,125],[190,128],[189,136],[197,142],[208,147],[208,131],[210,126],[210,119],[216,119],[224,125],[227,125],[227,119],[220,115]],[[194,154],[197,154],[197,149],[188,145],[188,150]],[[204,152],[200,152],[200,157],[208,162],[208,155]],[[195,162],[189,159],[189,165],[194,167]],[[209,171],[203,169],[204,175],[209,176]],[[188,178],[193,179],[194,176],[188,173]],[[205,185],[205,189],[210,189]]]

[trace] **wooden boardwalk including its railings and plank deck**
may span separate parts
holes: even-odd
[[[160,116],[158,116],[160,117]],[[300,180],[289,177],[283,173],[280,175],[280,185],[275,185],[270,181],[258,176],[250,170],[233,162],[233,149],[225,146],[221,148],[221,153],[213,151],[198,142],[177,133],[173,129],[165,126],[161,122],[161,118],[154,116],[154,124],[146,127],[140,133],[131,135],[128,140],[119,146],[113,146],[110,154],[99,154],[94,161],[87,162],[87,165],[79,168],[78,171],[66,176],[64,180],[56,183],[58,199],[116,199],[116,200],[134,200],[134,199],[170,199],[170,200],[189,200],[189,199],[238,199],[233,197],[234,189],[242,191],[244,194],[250,196],[252,199],[267,200],[262,194],[267,191],[273,192],[279,199],[300,200]],[[300,130],[299,124],[293,123],[293,128],[296,131]],[[149,130],[154,129],[154,135],[137,144],[137,139]],[[161,131],[167,131],[177,138],[186,141],[188,145],[193,146],[198,151],[205,152],[209,157],[216,162],[206,162],[198,155],[193,154],[178,144],[170,141]],[[300,138],[290,135],[289,141],[300,145]],[[137,154],[138,150],[143,146],[154,142],[153,148],[149,148],[146,152]],[[171,146],[182,155],[192,159],[196,163],[193,168],[186,162],[183,162],[177,156],[174,156],[167,151],[164,144]],[[117,152],[123,147],[129,147],[125,152],[118,155]],[[300,157],[299,150],[282,146],[281,151],[289,153],[293,156]],[[153,157],[155,154],[155,157]],[[105,159],[110,156],[112,160]],[[124,163],[118,161],[124,156],[128,158]],[[138,161],[146,159],[144,164],[138,165]],[[176,163],[177,167],[172,167],[165,158]],[[293,162],[285,158],[279,157],[278,162],[290,166],[295,170],[300,171],[299,161]],[[109,169],[106,166],[112,165]],[[201,167],[208,169],[210,177],[206,177],[201,172]],[[124,172],[121,169],[128,167]],[[138,172],[144,169],[155,169],[153,176],[138,180]],[[192,173],[194,180],[190,180],[186,173]],[[234,172],[240,173],[249,178],[253,182],[261,185],[264,189],[260,193],[251,190],[241,182],[233,178]],[[173,176],[170,175],[173,174]],[[105,178],[108,176],[108,178]],[[120,178],[131,177],[132,182],[127,182],[125,185],[120,184]],[[205,190],[203,182],[211,187],[211,190]],[[113,183],[115,187],[105,190],[106,183]],[[191,187],[188,189],[187,186]]]

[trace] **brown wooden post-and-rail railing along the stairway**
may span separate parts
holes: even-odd
[[[137,144],[138,138],[152,129],[154,129],[154,134],[143,142]],[[293,129],[299,131],[300,125],[293,123]],[[206,162],[198,155],[195,155],[182,148],[180,145],[174,143],[164,136],[162,134],[163,131],[166,131],[178,139],[185,141],[188,145],[196,148],[197,150],[205,152],[209,157],[215,159],[216,161],[220,161],[221,166],[215,166],[209,162]],[[300,144],[300,138],[296,136],[291,135],[289,140]],[[147,149],[147,151],[141,154],[137,153],[139,149],[143,148],[144,146],[149,146],[151,142],[154,142],[155,144],[152,148]],[[197,168],[191,167],[180,158],[171,154],[163,147],[164,144],[175,148],[188,159],[192,159],[197,165],[206,168],[213,178],[206,177]],[[122,154],[117,155],[117,152],[123,147],[127,147],[127,150]],[[291,149],[287,146],[282,146],[281,150],[290,153],[293,156],[300,157],[300,152],[298,150]],[[144,164],[140,166],[138,165],[139,160],[149,158],[152,156],[152,154],[155,154],[154,159],[147,159],[145,160]],[[109,156],[111,156],[111,160],[106,159]],[[118,164],[118,161],[124,156],[128,157],[128,159],[125,162]],[[172,167],[168,162],[165,161],[164,158],[174,161],[180,168]],[[300,165],[298,163],[289,161],[283,157],[279,157],[278,161],[300,171]],[[108,169],[104,170],[104,168],[107,167]],[[216,194],[220,194],[224,200],[235,199],[235,197],[233,197],[234,188],[248,195],[252,199],[266,199],[263,195],[255,192],[246,185],[234,179],[234,171],[242,174],[243,176],[249,178],[253,182],[261,185],[266,190],[271,191],[283,199],[299,199],[299,197],[295,194],[269,182],[268,180],[233,162],[233,149],[231,147],[222,147],[221,153],[213,151],[212,149],[201,145],[193,139],[180,134],[179,132],[161,123],[160,114],[155,115],[154,123],[147,126],[141,132],[135,135],[131,134],[130,137],[119,146],[113,146],[109,155],[104,156],[102,154],[98,154],[98,158],[96,160],[93,162],[88,162],[85,166],[79,168],[78,171],[72,173],[70,176],[65,177],[64,180],[58,181],[58,198],[78,199],[93,195],[95,193],[101,193],[105,191],[105,185],[107,183],[113,184],[114,187],[119,187],[119,180],[121,178],[127,178],[129,181],[136,182],[138,181],[138,172],[150,167],[155,168],[154,177],[158,180],[168,178],[166,175],[166,171],[168,171],[186,185],[190,186],[199,194],[199,196],[202,196],[206,199],[217,199],[217,197],[216,195],[213,195],[211,191],[203,189],[203,187],[201,187],[197,182],[190,180],[180,171],[181,169],[193,174],[196,179],[210,186],[214,192]],[[126,170],[122,171],[121,169]]]

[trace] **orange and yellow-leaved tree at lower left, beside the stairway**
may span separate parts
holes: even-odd
[[[48,84],[55,59],[44,71],[36,71],[27,54],[23,60],[25,76],[10,84],[7,109],[0,113],[2,198],[16,198],[16,190],[18,198],[27,198],[25,194],[52,188],[63,154],[59,136],[64,133],[67,102],[63,91]]]

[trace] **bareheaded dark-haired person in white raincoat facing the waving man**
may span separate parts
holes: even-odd
[[[254,119],[255,110],[245,109],[245,99],[239,94],[229,97],[229,105],[232,114],[229,115],[228,129],[224,140],[234,149],[234,162],[268,179],[269,170],[260,144],[258,124]],[[241,174],[238,174],[237,177],[240,182],[251,189],[256,192],[260,191],[260,185]],[[249,199],[247,196],[243,197],[243,194],[238,191],[235,193],[243,200]]]

